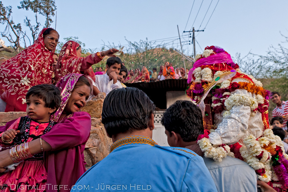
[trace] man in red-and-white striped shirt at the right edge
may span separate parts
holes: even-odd
[[[288,101],[281,101],[281,96],[278,92],[272,92],[272,102],[277,104],[275,109],[272,111],[273,117],[282,117],[283,118],[283,129],[287,131],[287,120],[288,120]]]

